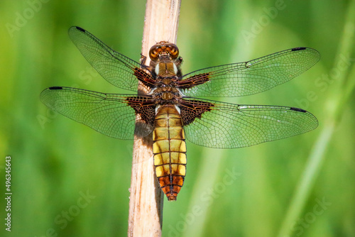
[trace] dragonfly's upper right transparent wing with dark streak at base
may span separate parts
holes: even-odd
[[[288,82],[318,60],[320,53],[317,50],[292,48],[249,62],[191,72],[182,77],[180,89],[188,97],[242,97]]]

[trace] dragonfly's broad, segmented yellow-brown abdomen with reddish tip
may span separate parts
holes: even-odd
[[[181,116],[174,105],[162,105],[155,115],[155,174],[169,201],[176,200],[186,174],[186,143]]]

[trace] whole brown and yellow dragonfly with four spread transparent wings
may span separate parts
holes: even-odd
[[[135,93],[49,87],[40,94],[40,100],[112,138],[153,136],[155,175],[169,201],[177,199],[185,181],[185,139],[208,148],[243,148],[318,126],[317,118],[304,109],[198,98],[243,97],[288,82],[320,60],[320,53],[312,48],[291,48],[183,75],[182,57],[173,43],[153,45],[148,55],[151,63],[145,65],[146,56],[142,55],[140,62],[131,60],[78,26],[72,26],[69,35],[99,75]],[[138,93],[138,82],[147,92]]]

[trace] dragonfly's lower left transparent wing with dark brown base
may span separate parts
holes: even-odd
[[[50,87],[40,94],[40,100],[50,109],[84,123],[104,135],[133,139],[136,113],[132,104],[149,104],[150,97],[135,97],[126,94],[104,94],[70,87]],[[143,106],[143,108],[151,108]],[[151,109],[154,108],[152,107]],[[139,136],[153,131],[151,122],[138,119]]]

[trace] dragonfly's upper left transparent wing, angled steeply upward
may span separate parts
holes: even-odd
[[[151,75],[140,68],[141,64],[112,50],[84,29],[73,26],[69,36],[87,62],[114,86],[136,92],[138,79],[148,85],[153,83]]]

